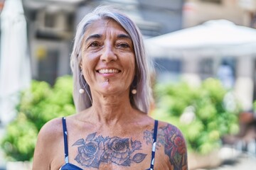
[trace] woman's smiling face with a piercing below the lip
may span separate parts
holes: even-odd
[[[95,21],[82,41],[80,67],[92,94],[129,94],[135,72],[132,39],[115,21]]]

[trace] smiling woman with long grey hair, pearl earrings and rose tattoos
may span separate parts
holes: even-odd
[[[71,67],[78,113],[43,126],[33,169],[188,169],[181,132],[146,115],[149,67],[142,35],[127,16],[110,6],[87,14]]]

